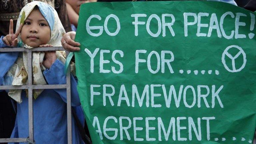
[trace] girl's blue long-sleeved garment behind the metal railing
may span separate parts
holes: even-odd
[[[0,38],[0,46],[4,45]],[[0,53],[0,83],[3,83],[5,73],[10,69],[18,57],[18,53]],[[56,60],[50,69],[43,72],[48,84],[66,84],[64,65]],[[22,103],[17,103],[17,116],[11,138],[27,138],[28,127],[28,98],[26,92],[21,94]],[[45,89],[40,96],[33,100],[34,110],[34,140],[36,144],[66,144],[67,143],[67,104],[66,89]],[[84,124],[77,82],[71,76],[71,105],[76,110],[78,118]],[[72,116],[72,144],[83,144],[75,119]],[[9,143],[13,144],[13,143]],[[17,143],[16,143],[17,144]]]

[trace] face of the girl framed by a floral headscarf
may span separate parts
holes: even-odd
[[[47,44],[51,38],[51,29],[39,9],[33,9],[21,29],[23,43],[31,47]]]

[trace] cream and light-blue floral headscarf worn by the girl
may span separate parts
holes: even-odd
[[[28,15],[32,12],[35,6],[38,6],[41,14],[47,20],[49,27],[51,29],[51,38],[48,44],[53,45],[55,47],[61,46],[61,37],[65,34],[65,30],[61,24],[61,21],[58,17],[55,9],[40,1],[33,1],[25,5],[19,15],[16,30],[18,29],[20,23],[24,23]],[[21,37],[18,36],[20,46],[24,46],[25,48],[32,48],[24,43],[22,43]],[[60,59],[63,63],[65,63],[65,51],[56,51],[57,58]],[[32,65],[33,65],[33,84],[35,85],[45,85],[47,84],[42,71],[46,68],[42,65],[44,52],[33,52],[32,53]],[[5,78],[11,79],[10,84],[12,85],[26,85],[27,84],[27,70],[28,70],[28,58],[27,53],[23,52],[20,54],[12,66],[12,68],[7,72]],[[8,85],[8,84],[6,84]],[[33,90],[33,98],[36,99],[43,90]],[[21,103],[21,92],[22,90],[10,90],[8,95],[13,98],[15,101]]]

